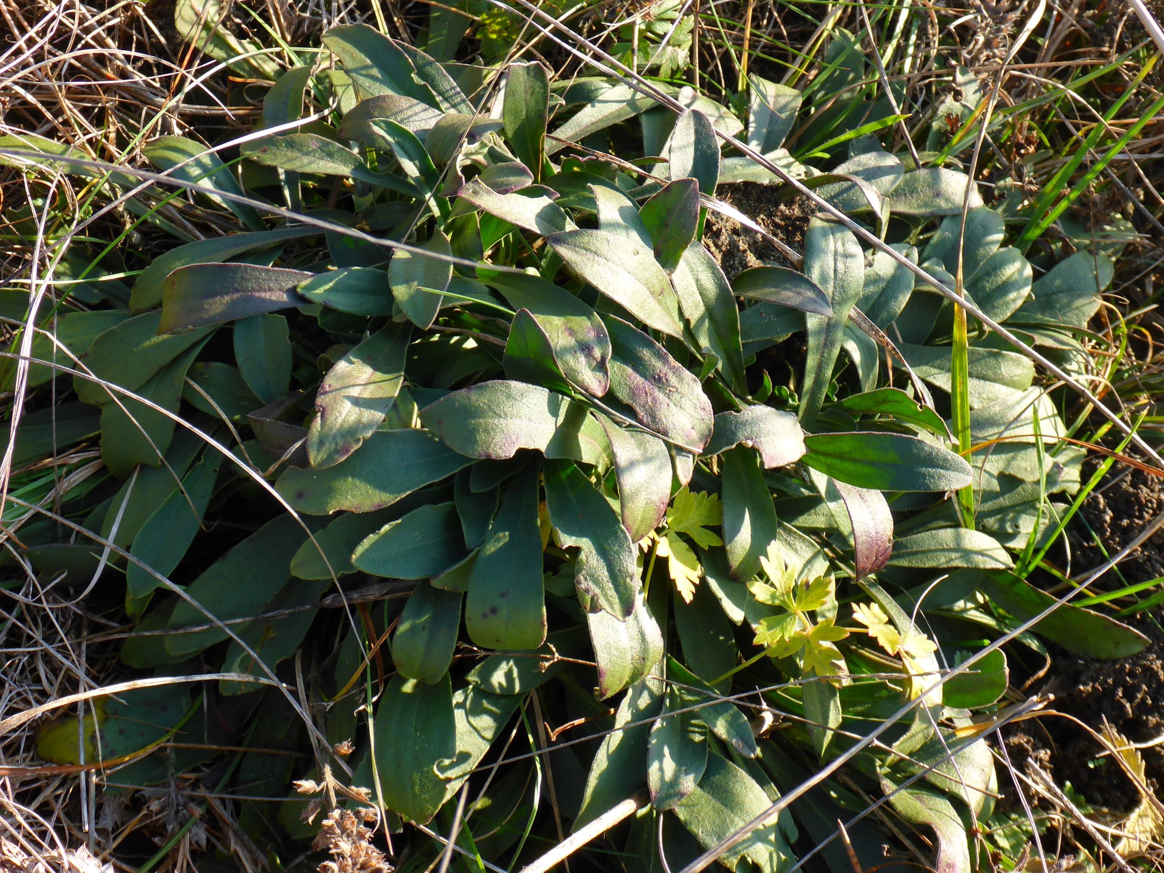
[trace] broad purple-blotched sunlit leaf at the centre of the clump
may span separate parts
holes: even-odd
[[[610,393],[638,413],[639,423],[683,448],[701,450],[711,439],[711,402],[698,378],[667,350],[620,318],[603,315],[610,333]]]

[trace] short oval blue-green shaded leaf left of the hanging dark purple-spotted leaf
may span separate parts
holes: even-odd
[[[456,506],[435,503],[414,509],[369,534],[352,553],[352,565],[385,579],[428,579],[466,554]]]

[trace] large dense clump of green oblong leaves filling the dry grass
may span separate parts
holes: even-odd
[[[127,626],[128,686],[42,726],[41,757],[100,761],[105,797],[205,772],[249,839],[326,819],[338,864],[383,828],[410,871],[580,833],[583,868],[873,870],[885,822],[941,871],[1020,857],[1035,825],[995,811],[989,745],[1024,701],[1008,655],[1145,638],[1064,605],[943,681],[1053,602],[1028,580],[1096,478],[1065,389],[910,265],[1086,381],[1120,254],[1032,248],[1028,192],[967,175],[951,132],[987,90],[957,71],[897,152],[900,107],[844,83],[674,84],[679,5],[615,51],[674,105],[509,63],[513,13],[483,19],[490,66],[446,59],[460,34],[345,24],[281,71],[179,7],[277,77],[254,134],[143,129],[148,172],[0,141],[80,177],[81,219],[112,191],[187,240],[137,263],[81,230],[54,290],[6,292],[8,560]],[[845,31],[826,57],[876,77]],[[818,203],[802,250],[726,275],[709,222],[760,228],[732,192],[805,203],[733,142]],[[190,241],[176,197],[233,229]]]

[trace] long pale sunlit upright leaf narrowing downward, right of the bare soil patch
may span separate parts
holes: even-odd
[[[811,427],[832,381],[849,313],[861,296],[865,255],[852,232],[843,225],[812,219],[804,236],[804,275],[824,291],[832,307],[831,315],[804,315],[808,364],[800,418],[805,427]]]

